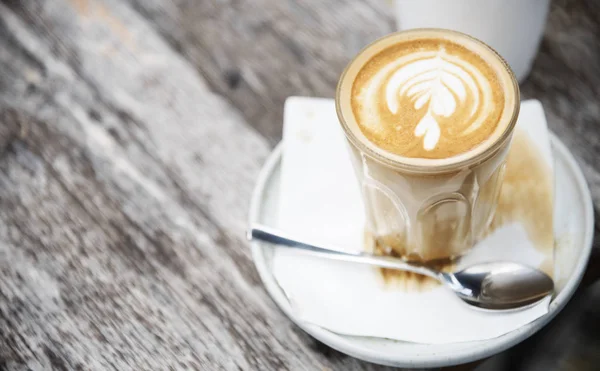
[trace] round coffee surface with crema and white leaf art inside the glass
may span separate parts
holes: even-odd
[[[364,63],[350,103],[369,141],[403,157],[444,159],[505,129],[505,67],[493,65],[499,58],[491,50],[459,41],[408,38]]]

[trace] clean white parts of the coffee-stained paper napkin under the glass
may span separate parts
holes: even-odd
[[[551,167],[543,109],[521,105],[517,135],[527,135]],[[333,100],[291,97],[284,116],[284,154],[277,227],[342,249],[364,246],[364,216]],[[460,265],[498,258],[540,266],[536,249],[518,223],[478,244]],[[551,258],[551,253],[550,253]],[[409,291],[385,285],[376,268],[277,249],[273,262],[296,316],[333,332],[443,344],[497,337],[547,313],[550,298],[517,312],[473,309],[442,286]]]

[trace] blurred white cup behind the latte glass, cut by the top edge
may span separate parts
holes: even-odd
[[[519,82],[529,71],[544,33],[550,0],[396,0],[399,30],[446,28],[494,48]]]

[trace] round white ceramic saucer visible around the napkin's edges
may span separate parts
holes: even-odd
[[[273,247],[252,242],[252,256],[267,291],[281,310],[304,331],[341,352],[366,361],[397,367],[444,367],[499,353],[534,334],[567,304],[577,288],[590,255],[594,214],[589,189],[575,159],[551,133],[555,169],[555,279],[557,295],[545,316],[506,335],[483,341],[428,345],[382,338],[339,335],[301,322],[272,272]],[[282,145],[267,159],[252,197],[250,222],[269,225],[276,218]]]

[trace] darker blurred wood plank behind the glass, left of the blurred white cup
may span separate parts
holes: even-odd
[[[333,97],[346,63],[393,30],[380,0],[129,2],[272,145],[286,97]]]

